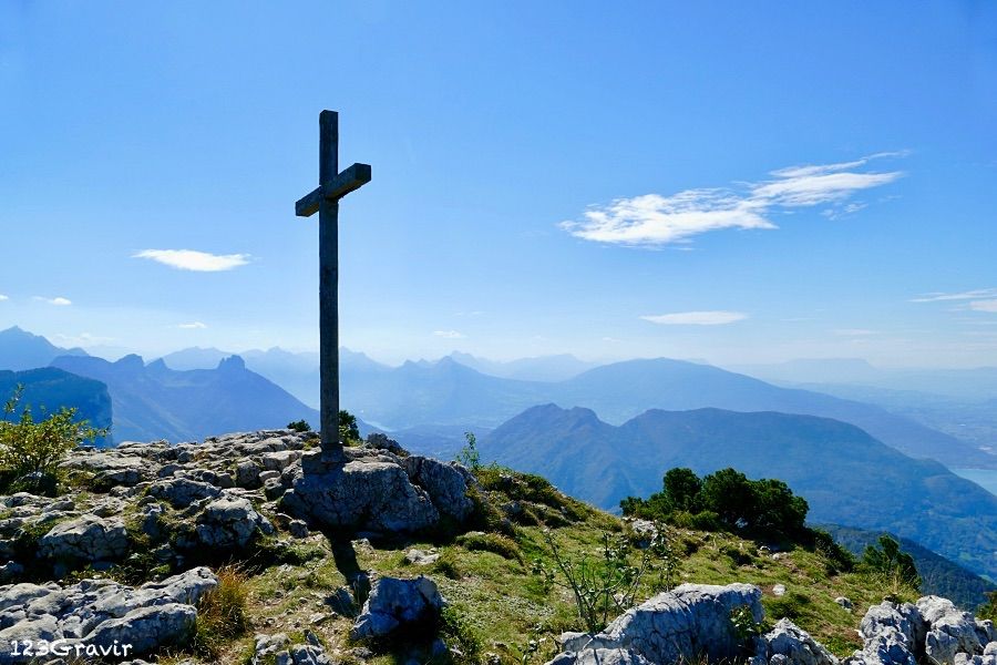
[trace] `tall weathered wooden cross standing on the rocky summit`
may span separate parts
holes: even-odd
[[[370,165],[339,172],[339,114],[319,113],[319,186],[295,204],[295,214],[319,214],[319,391],[321,461],[346,461],[339,440],[339,200],[370,182]]]

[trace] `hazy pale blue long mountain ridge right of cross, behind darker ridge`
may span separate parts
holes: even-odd
[[[589,408],[611,423],[656,408],[781,411],[851,422],[912,457],[956,468],[997,468],[997,456],[880,407],[665,358],[606,365],[556,382],[486,376],[451,357],[381,366],[343,376],[342,401],[345,408],[389,430],[430,424],[490,429],[545,402]]]

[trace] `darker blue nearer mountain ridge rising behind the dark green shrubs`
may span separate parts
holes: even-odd
[[[835,420],[719,409],[650,410],[614,427],[582,408],[534,407],[492,432],[482,459],[541,473],[603,508],[660,490],[672,467],[784,480],[810,521],[886,530],[997,580],[997,497]]]

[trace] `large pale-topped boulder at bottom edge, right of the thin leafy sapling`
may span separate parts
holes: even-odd
[[[738,607],[747,607],[753,621],[761,622],[761,590],[750,584],[682,584],[628,610],[602,633],[564,640],[565,653],[554,662],[588,663],[607,652],[620,663],[637,663],[638,657],[651,663],[742,657],[749,644],[731,623]]]

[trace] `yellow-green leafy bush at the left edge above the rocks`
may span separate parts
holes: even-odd
[[[16,417],[21,393],[18,386],[0,419],[0,492],[54,495],[61,480],[59,463],[70,450],[105,436],[107,430],[76,421],[76,409],[65,407],[40,422],[27,406]]]

